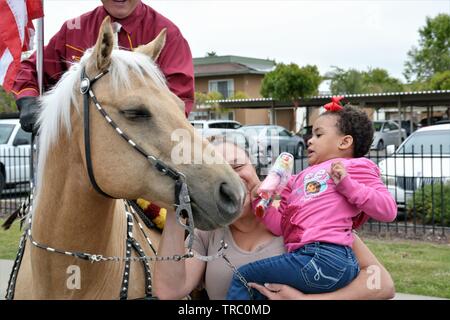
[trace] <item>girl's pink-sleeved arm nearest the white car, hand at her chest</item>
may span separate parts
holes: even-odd
[[[347,168],[335,163],[331,176],[337,182],[336,190],[373,219],[390,222],[396,218],[397,204],[381,181],[379,168],[370,160],[352,160]]]

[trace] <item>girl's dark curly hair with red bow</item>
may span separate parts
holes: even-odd
[[[364,111],[346,105],[339,111],[326,111],[321,116],[337,117],[336,126],[344,135],[353,137],[353,157],[363,157],[370,150],[373,141],[373,124]]]

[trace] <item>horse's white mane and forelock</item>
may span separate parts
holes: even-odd
[[[42,175],[48,153],[57,142],[61,132],[65,131],[70,136],[72,131],[71,106],[80,113],[78,99],[81,70],[88,66],[92,52],[93,49],[87,50],[80,62],[72,64],[58,83],[40,98],[37,190],[40,189],[39,185],[43,180]],[[167,89],[164,75],[147,55],[125,50],[113,50],[108,77],[112,90],[114,92],[132,90],[132,74],[137,75],[138,79],[142,81],[146,77],[150,77],[158,88]],[[96,75],[88,74],[89,78]],[[99,81],[106,80],[103,78]]]

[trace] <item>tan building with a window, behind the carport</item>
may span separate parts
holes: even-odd
[[[240,56],[207,56],[194,58],[195,91],[207,94],[219,92],[224,99],[236,94],[246,98],[261,98],[264,75],[275,68],[275,61]],[[194,105],[189,119],[229,119],[242,124],[268,124],[269,110],[228,110],[211,105]]]

